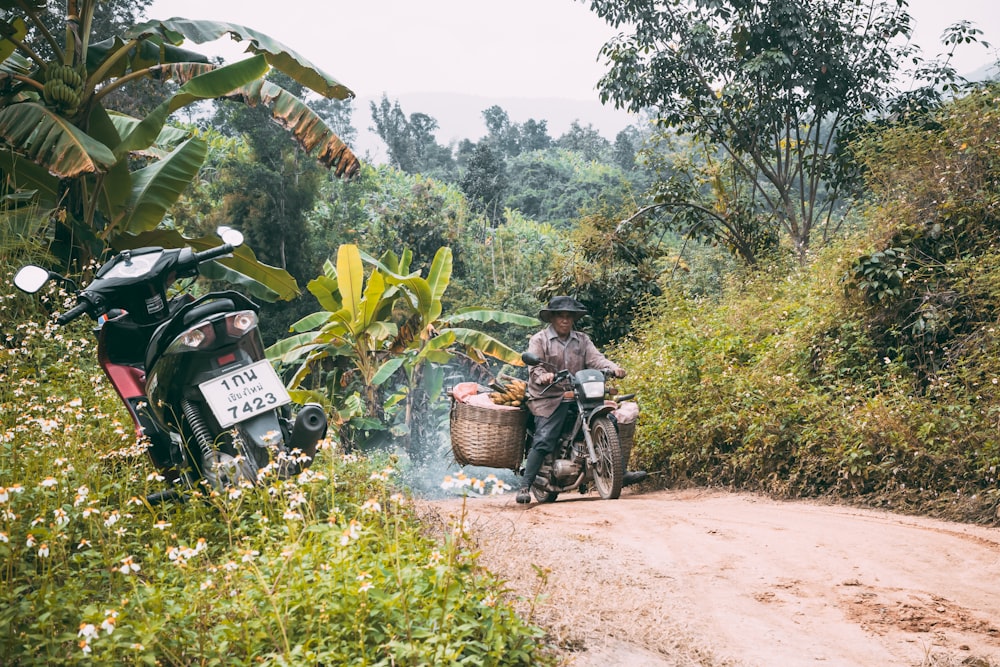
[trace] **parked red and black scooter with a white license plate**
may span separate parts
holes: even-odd
[[[222,244],[123,250],[76,292],[77,303],[56,318],[68,324],[87,314],[97,322],[97,355],[168,488],[151,503],[182,499],[205,483],[212,489],[261,474],[280,477],[308,467],[326,436],[323,408],[309,403],[291,415],[291,398],[264,354],[259,306],[235,291],[195,298],[205,262],[230,256],[243,235],[220,228]],[[21,268],[14,284],[34,294],[51,279],[68,278],[40,266]],[[167,290],[190,279],[172,298]]]

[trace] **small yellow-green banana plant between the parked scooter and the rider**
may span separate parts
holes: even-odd
[[[443,368],[459,350],[477,362],[491,356],[521,364],[518,352],[501,341],[456,325],[478,321],[537,326],[537,319],[479,308],[446,316],[442,298],[451,282],[451,249],[438,249],[426,278],[410,271],[411,261],[409,250],[402,256],[388,252],[375,259],[357,246],[342,245],[336,265],[328,261],[324,274],[309,283],[309,291],[324,310],[293,324],[294,335],[268,349],[272,360],[297,364],[288,383],[295,400],[319,400],[333,406],[334,412],[343,412],[337,406],[361,394],[369,423],[391,417],[402,407],[402,421],[391,430],[397,437],[408,438],[415,409],[440,396]],[[365,264],[371,267],[367,282]],[[349,373],[340,375],[339,381],[336,375],[328,378],[326,395],[303,389],[306,378],[331,358],[344,361]],[[398,373],[405,381],[391,393],[386,391]],[[348,376],[357,382],[348,381]],[[337,395],[338,387],[351,390]],[[422,388],[420,396],[418,387]]]

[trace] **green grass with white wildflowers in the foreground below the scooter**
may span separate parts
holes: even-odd
[[[0,297],[0,664],[552,662],[391,457],[327,442],[298,478],[147,504],[162,485],[87,324],[45,319]]]

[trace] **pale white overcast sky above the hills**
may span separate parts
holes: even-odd
[[[910,0],[909,6],[914,41],[927,55],[940,52],[945,26],[971,20],[993,46],[963,47],[956,69],[967,73],[996,60],[1000,1]],[[148,15],[245,25],[357,95],[390,99],[460,92],[594,100],[604,72],[598,52],[614,34],[579,0],[154,0]],[[231,59],[240,51],[220,53]]]

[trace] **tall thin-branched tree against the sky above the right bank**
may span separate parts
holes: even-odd
[[[886,108],[911,20],[905,0],[592,0],[627,29],[601,53],[602,101],[720,146],[804,260],[844,194],[840,130]],[[935,70],[940,74],[940,70]],[[945,73],[947,78],[947,73]]]

